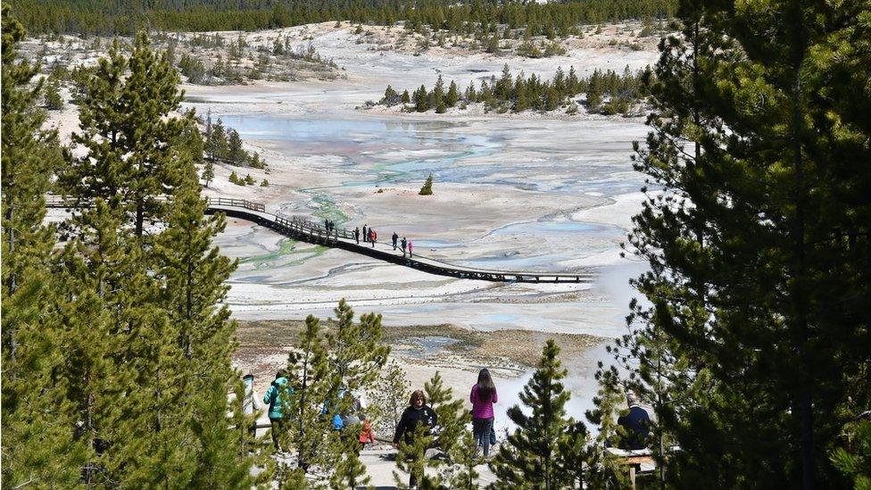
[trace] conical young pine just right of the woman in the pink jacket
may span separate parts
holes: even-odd
[[[508,417],[518,428],[491,462],[498,478],[494,488],[550,490],[569,483],[569,475],[559,464],[560,441],[569,426],[566,403],[570,396],[560,382],[567,371],[560,367],[559,353],[560,347],[548,340],[533,378],[523,387],[520,402],[532,414],[525,414],[518,405],[508,410]],[[529,475],[536,475],[535,480]]]

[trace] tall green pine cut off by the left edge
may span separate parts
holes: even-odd
[[[65,339],[53,305],[54,230],[43,225],[44,195],[59,164],[54,133],[41,131],[38,66],[17,60],[21,24],[3,5],[3,483],[75,486],[90,456],[73,437],[74,407],[52,373]],[[53,287],[54,285],[54,287]],[[34,407],[38,407],[34,409]]]

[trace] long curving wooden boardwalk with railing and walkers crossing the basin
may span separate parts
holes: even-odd
[[[262,203],[253,203],[245,199],[230,199],[226,197],[210,197],[206,212],[224,212],[228,216],[252,221],[270,228],[285,237],[291,237],[310,244],[326,245],[341,248],[353,253],[368,255],[374,259],[391,262],[411,269],[422,270],[430,274],[450,276],[452,278],[478,279],[494,282],[528,282],[528,283],[589,283],[595,278],[593,272],[536,272],[519,270],[485,270],[447,262],[438,261],[418,253],[414,257],[402,256],[402,251],[393,249],[388,239],[385,242],[372,244],[362,242],[357,244],[353,232],[349,229],[336,229],[327,233],[322,224],[294,216],[286,218],[271,212],[266,212]],[[73,207],[73,203],[60,196],[46,196],[46,205],[54,208]]]

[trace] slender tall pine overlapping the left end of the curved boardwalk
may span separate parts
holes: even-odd
[[[212,246],[212,238],[224,229],[224,218],[204,216],[206,202],[200,197],[194,167],[188,169],[170,203],[172,211],[157,238],[156,253],[166,284],[161,303],[178,332],[181,355],[174,369],[184,373],[178,380],[179,402],[199,421],[194,435],[200,444],[186,449],[196,461],[191,485],[247,486],[252,461],[226,417],[228,389],[240,378],[230,359],[236,324],[229,320],[227,306],[218,306],[227,296],[225,282],[236,263]]]

